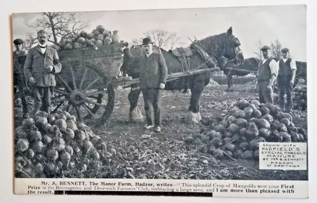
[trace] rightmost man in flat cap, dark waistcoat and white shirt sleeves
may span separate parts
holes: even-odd
[[[285,111],[285,99],[284,94],[287,97],[287,111],[293,112],[293,85],[296,74],[296,61],[289,58],[289,49],[284,48],[281,51],[283,53],[283,58],[277,61],[279,67],[277,75],[277,85],[279,89],[279,106]]]

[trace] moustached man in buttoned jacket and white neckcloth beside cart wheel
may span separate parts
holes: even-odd
[[[56,86],[55,74],[61,71],[57,51],[47,45],[45,30],[38,31],[39,44],[29,50],[24,65],[26,79],[34,86],[34,114],[39,110],[51,113],[51,98]]]

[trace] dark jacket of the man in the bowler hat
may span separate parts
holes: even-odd
[[[166,83],[167,65],[161,53],[153,52],[149,57],[139,57],[140,88],[159,88]]]

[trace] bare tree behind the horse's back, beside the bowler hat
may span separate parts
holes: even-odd
[[[156,46],[165,50],[173,49],[176,44],[179,44],[180,40],[175,33],[170,33],[165,30],[150,30],[143,34],[151,38]]]

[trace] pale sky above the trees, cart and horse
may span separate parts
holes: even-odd
[[[144,37],[149,30],[165,30],[175,33],[185,46],[194,40],[226,32],[230,27],[239,38],[245,58],[256,56],[259,40],[270,45],[278,40],[283,48],[298,61],[306,59],[306,7],[304,5],[246,6],[225,8],[157,9],[126,11],[77,12],[88,23],[85,31],[91,32],[97,25],[108,30],[118,30],[121,40]],[[35,33],[28,24],[34,23],[41,13],[12,15],[13,39]]]

